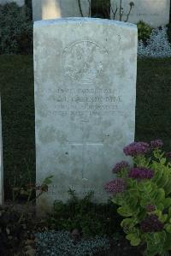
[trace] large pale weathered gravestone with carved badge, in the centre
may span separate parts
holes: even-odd
[[[68,189],[97,202],[134,140],[137,27],[66,18],[34,22],[37,183],[53,175],[39,212]]]

